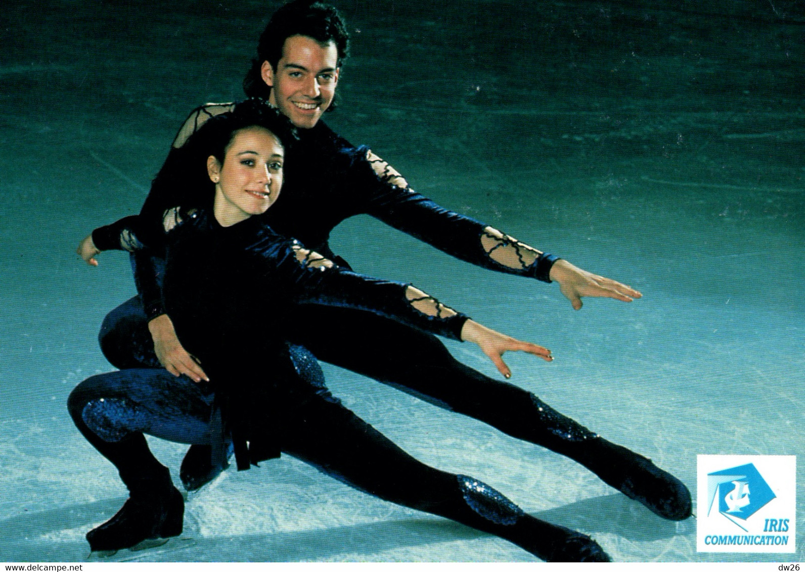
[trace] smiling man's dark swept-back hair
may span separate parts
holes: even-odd
[[[251,68],[243,79],[243,91],[248,97],[268,98],[271,88],[262,80],[260,68],[267,61],[274,71],[283,57],[285,40],[293,35],[306,35],[319,43],[332,42],[338,51],[337,67],[349,56],[349,33],[333,6],[312,0],[295,0],[277,10],[260,35],[257,59],[252,60]],[[335,108],[335,99],[328,111]]]

